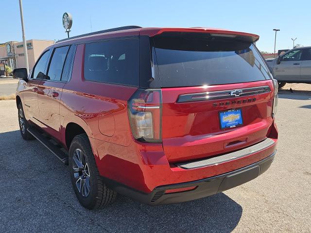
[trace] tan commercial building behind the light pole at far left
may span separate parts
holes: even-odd
[[[29,69],[35,66],[35,61],[41,52],[54,44],[53,40],[27,40]],[[0,44],[0,63],[12,69],[25,67],[23,42],[9,41]],[[0,75],[4,75],[4,66],[0,65]]]

